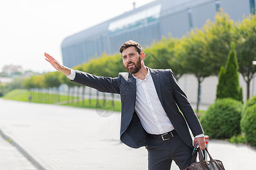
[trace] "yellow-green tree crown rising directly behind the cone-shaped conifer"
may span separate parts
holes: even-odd
[[[214,75],[218,75],[221,66],[225,66],[230,50],[230,42],[236,42],[234,22],[223,10],[216,13],[215,21],[209,20],[203,27],[207,56],[211,63],[208,65]]]

